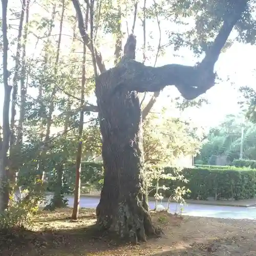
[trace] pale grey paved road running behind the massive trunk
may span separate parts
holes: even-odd
[[[48,196],[49,198],[49,196]],[[67,196],[69,206],[73,206],[74,197]],[[99,198],[95,197],[81,197],[80,207],[96,208],[99,203]],[[167,207],[167,203],[163,202],[162,205]],[[177,207],[178,206],[178,207]],[[150,208],[154,209],[155,202],[150,202]],[[174,213],[176,207],[180,210],[180,205],[177,203],[170,203],[169,211]],[[202,204],[186,204],[181,206],[182,215],[198,216],[198,217],[212,217],[212,218],[231,218],[231,219],[256,219],[256,207],[234,207],[234,206],[215,206],[215,205],[202,205]]]

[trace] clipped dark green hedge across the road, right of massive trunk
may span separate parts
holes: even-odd
[[[166,167],[166,172],[174,172],[173,168]],[[177,186],[185,186],[191,190],[190,199],[207,200],[208,198],[220,199],[250,199],[256,195],[256,178],[254,169],[239,168],[184,168],[182,174],[189,180],[187,184],[180,181],[163,181],[165,186],[174,190]],[[165,191],[165,196],[170,196]]]

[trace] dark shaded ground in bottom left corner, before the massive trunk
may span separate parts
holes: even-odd
[[[124,245],[111,234],[100,233],[95,225],[58,231],[13,230],[12,233],[0,233],[0,241],[0,255],[3,256],[80,255]]]

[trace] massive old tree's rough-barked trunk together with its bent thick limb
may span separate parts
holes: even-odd
[[[80,20],[84,42],[82,14],[77,0],[72,0]],[[134,60],[136,39],[132,34],[124,46],[124,56],[116,67],[95,79],[96,97],[102,135],[104,184],[96,209],[97,223],[124,238],[145,241],[156,234],[147,205],[143,172],[142,117],[138,92],[159,92],[175,86],[188,100],[205,93],[215,84],[214,66],[221,49],[248,1],[240,1],[229,10],[228,20],[198,65],[177,64],[146,67]],[[90,46],[89,46],[90,47]]]

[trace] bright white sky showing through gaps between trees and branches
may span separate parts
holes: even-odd
[[[35,3],[35,2],[33,2]],[[32,12],[40,13],[42,10],[38,6],[33,6],[31,8]],[[130,24],[132,24],[130,22]],[[58,27],[57,25],[55,27]],[[156,22],[148,22],[147,27],[151,28],[154,32],[154,38],[151,39],[151,43],[158,45],[159,41],[159,31]],[[165,30],[169,28],[169,23],[165,20],[161,20],[161,37],[162,45],[167,40],[167,35],[164,33]],[[173,28],[173,30],[180,31],[180,28]],[[184,29],[184,28],[181,28]],[[125,28],[126,30],[126,28]],[[125,31],[124,30],[124,31]],[[137,36],[137,45],[142,45],[142,33],[141,26],[137,26],[135,29],[135,35]],[[17,33],[17,31],[12,31],[12,33]],[[63,34],[70,34],[68,29],[64,29]],[[113,40],[112,38],[110,38]],[[65,46],[64,46],[65,47]],[[65,51],[64,47],[62,51]],[[34,49],[28,49],[30,54],[34,53]],[[108,44],[102,45],[100,51],[105,58],[107,55],[112,55]],[[37,55],[40,54],[39,51],[35,52]],[[197,62],[197,59],[194,57],[193,53],[190,50],[183,48],[179,52],[180,56],[174,56],[177,52],[174,52],[172,47],[166,50],[166,54],[162,57],[159,57],[156,63],[156,66],[162,66],[168,63],[179,63],[183,65],[194,65]],[[10,56],[11,53],[9,53]],[[146,65],[154,65],[155,52],[147,52],[147,55],[152,55],[152,60],[148,60]],[[110,55],[110,56],[111,56]],[[253,57],[254,56],[254,57]],[[239,112],[240,106],[238,105],[240,93],[238,89],[241,86],[255,86],[255,77],[254,69],[255,66],[255,56],[256,56],[256,46],[244,45],[238,42],[235,42],[225,53],[220,55],[220,58],[216,65],[216,71],[218,75],[224,80],[215,87],[211,88],[205,95],[203,95],[208,101],[209,104],[203,105],[200,109],[190,109],[184,112],[171,109],[170,116],[181,116],[184,118],[190,118],[194,123],[200,126],[213,126],[221,122],[225,115],[227,114],[237,114]],[[138,54],[138,61],[141,60],[141,54]],[[0,60],[0,63],[2,59]],[[14,65],[11,58],[9,58],[9,69]],[[108,67],[108,65],[107,65]],[[111,66],[109,66],[110,68]],[[228,81],[227,78],[229,78]],[[31,91],[31,95],[35,92]],[[179,96],[179,92],[175,87],[166,87],[160,94],[157,103],[155,104],[155,111],[160,111],[162,106],[170,105],[170,98]],[[150,98],[148,95],[147,98]],[[4,101],[4,87],[0,84],[0,109],[2,108]],[[2,123],[3,114],[0,111],[0,123]]]

